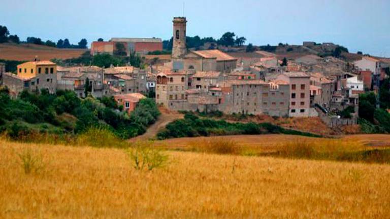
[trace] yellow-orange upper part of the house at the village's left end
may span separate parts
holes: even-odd
[[[17,75],[20,78],[29,79],[39,74],[56,75],[57,65],[51,61],[29,61],[17,66]]]

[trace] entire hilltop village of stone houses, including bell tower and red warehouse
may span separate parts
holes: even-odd
[[[369,90],[378,92],[379,81],[390,68],[390,59],[370,56],[349,63],[314,54],[286,59],[262,50],[248,56],[224,52],[226,48],[217,45],[189,50],[186,27],[186,18],[175,17],[172,54],[156,56],[159,61],[143,69],[66,67],[36,59],[18,65],[16,74],[5,72],[4,64],[0,64],[1,83],[14,97],[23,90],[41,89],[49,93],[72,90],[80,98],[88,94],[113,96],[128,113],[140,99],[152,94],[156,103],[173,111],[319,117],[329,127],[338,127],[356,124],[359,95]],[[157,38],[112,38],[109,42],[93,42],[90,54],[113,54],[118,45],[125,54],[143,56],[163,49]],[[302,47],[336,49],[333,43],[303,42]],[[350,115],[340,116],[347,108],[351,109]]]

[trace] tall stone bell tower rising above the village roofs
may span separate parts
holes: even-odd
[[[187,53],[185,45],[185,29],[187,20],[185,17],[173,18],[173,47],[172,58],[181,58]]]

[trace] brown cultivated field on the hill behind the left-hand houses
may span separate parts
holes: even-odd
[[[36,56],[40,60],[77,58],[85,49],[57,49],[35,44],[0,44],[0,59],[30,61]]]

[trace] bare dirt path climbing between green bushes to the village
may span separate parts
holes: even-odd
[[[148,130],[143,135],[130,138],[130,141],[137,140],[148,140],[155,137],[160,129],[163,129],[168,123],[173,122],[177,119],[183,119],[184,115],[177,112],[169,111],[166,108],[159,108],[161,115],[158,117],[157,121],[151,125]]]

